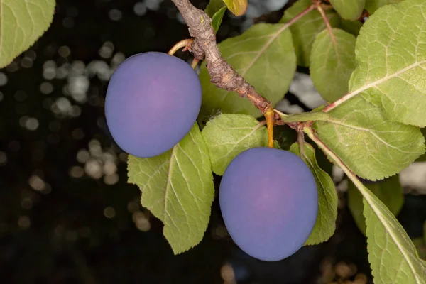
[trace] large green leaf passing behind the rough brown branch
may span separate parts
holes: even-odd
[[[236,72],[256,91],[276,104],[288,91],[296,70],[296,58],[290,31],[283,24],[258,23],[243,34],[219,43],[219,50]],[[223,113],[261,116],[249,99],[236,92],[217,88],[210,82],[205,63],[201,67],[201,116]]]

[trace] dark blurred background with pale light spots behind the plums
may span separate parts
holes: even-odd
[[[247,16],[226,14],[218,41],[253,21],[279,21],[294,1],[249,2]],[[1,283],[371,282],[366,239],[344,192],[332,239],[284,261],[240,251],[217,201],[202,242],[173,255],[161,222],[141,207],[138,187],[126,183],[126,154],[107,130],[104,95],[125,58],[167,52],[187,37],[169,0],[57,0],[45,35],[0,70]],[[295,94],[286,99],[310,109]],[[407,195],[399,218],[411,237],[422,236],[424,208],[424,195]]]

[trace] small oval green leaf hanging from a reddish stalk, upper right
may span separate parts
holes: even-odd
[[[355,70],[356,38],[338,28],[317,35],[312,45],[310,76],[315,89],[327,102],[334,102],[348,92],[348,82]]]

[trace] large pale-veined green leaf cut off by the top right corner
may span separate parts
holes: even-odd
[[[383,6],[361,28],[349,91],[387,119],[426,126],[426,1]]]

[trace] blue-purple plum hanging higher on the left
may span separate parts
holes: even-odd
[[[195,124],[202,99],[198,75],[167,53],[138,53],[114,71],[105,98],[112,138],[131,155],[165,153]]]

